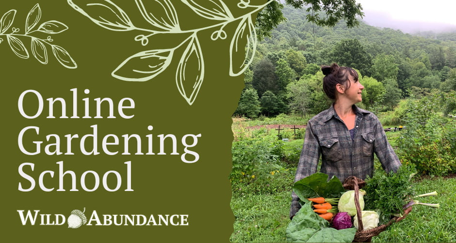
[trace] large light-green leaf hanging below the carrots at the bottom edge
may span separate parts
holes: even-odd
[[[287,242],[352,242],[356,228],[337,230],[305,203],[287,227]]]

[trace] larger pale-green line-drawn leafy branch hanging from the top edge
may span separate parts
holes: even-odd
[[[230,42],[229,75],[238,76],[250,65],[256,52],[257,34],[252,15],[274,0],[261,5],[250,4],[250,0],[240,0],[238,8],[248,9],[242,16],[234,17],[223,0],[181,0],[195,14],[219,23],[205,27],[182,30],[179,17],[171,0],[135,0],[141,16],[153,27],[136,27],[125,11],[111,0],[93,0],[92,3],[77,4],[80,0],[67,0],[68,4],[97,25],[112,31],[143,31],[135,41],[142,46],[149,44],[149,38],[157,34],[188,34],[177,46],[169,49],[152,49],[138,52],[125,59],[112,76],[124,81],[144,82],[153,79],[169,67],[175,51],[185,47],[176,70],[176,85],[179,93],[192,105],[204,79],[204,60],[197,34],[203,30],[216,29],[212,40],[228,38],[224,30],[229,23],[239,22]],[[245,44],[246,43],[246,44]],[[196,64],[194,70],[185,69],[187,63]]]

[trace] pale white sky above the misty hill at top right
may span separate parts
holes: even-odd
[[[371,25],[422,31],[456,27],[456,0],[356,1],[363,7],[363,20]]]

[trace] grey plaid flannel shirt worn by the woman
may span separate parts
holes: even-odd
[[[386,172],[396,172],[401,162],[388,142],[378,118],[353,105],[356,114],[355,137],[352,140],[345,123],[333,105],[309,120],[304,145],[294,181],[317,171],[322,156],[321,172],[343,180],[354,175],[365,179],[374,172],[374,153]],[[298,196],[292,193],[290,218],[301,208]]]

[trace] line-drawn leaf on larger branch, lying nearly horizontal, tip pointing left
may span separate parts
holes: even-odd
[[[169,66],[173,53],[174,49],[138,52],[125,59],[111,75],[124,81],[148,81]]]

